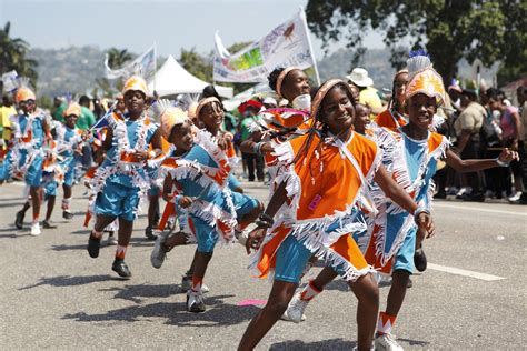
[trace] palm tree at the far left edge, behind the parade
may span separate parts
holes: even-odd
[[[37,83],[38,62],[28,58],[29,43],[21,38],[11,38],[11,23],[0,29],[0,74],[16,70],[19,77],[28,77]]]

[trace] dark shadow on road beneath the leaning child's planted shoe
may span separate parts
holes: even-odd
[[[142,290],[142,293],[152,293],[156,289],[161,287],[161,293],[170,292],[167,285],[150,285]],[[145,288],[145,287],[143,287]],[[130,288],[129,288],[130,289]],[[132,289],[141,289],[137,285]],[[119,291],[119,294],[127,294]],[[165,322],[168,325],[177,327],[217,327],[217,325],[233,325],[249,321],[257,313],[258,308],[253,305],[238,307],[236,304],[223,303],[223,299],[232,295],[206,295],[207,311],[205,313],[189,313],[186,310],[186,302],[157,302],[151,304],[138,304],[100,314],[88,314],[86,312],[66,314],[62,319],[76,320],[79,322],[92,321],[155,321],[156,319],[167,319]],[[127,297],[130,300],[130,297]],[[133,300],[132,300],[133,301]]]

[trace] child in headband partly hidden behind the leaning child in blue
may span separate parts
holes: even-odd
[[[228,157],[235,154],[232,136],[221,129],[225,119],[225,111],[220,100],[215,97],[201,99],[196,108],[196,117],[198,118],[200,126],[202,126],[205,130],[207,130],[212,136],[213,141],[223,152],[226,152]],[[232,166],[236,161],[237,159],[229,157],[229,162]],[[237,228],[236,230],[237,239],[243,240],[241,238],[243,228],[246,228],[249,223],[253,222],[258,218],[258,214],[264,210],[264,205],[257,200],[243,195],[243,189],[241,188],[241,183],[238,179],[236,179],[232,173],[230,173],[228,177],[228,185],[232,191],[232,201],[235,203],[235,207],[237,209],[246,209],[243,210],[243,213],[249,211],[243,218],[243,223],[239,225],[239,228]],[[241,243],[245,244],[245,242]],[[185,292],[190,290],[192,284],[192,273],[197,255],[198,251],[196,251],[192,264],[181,279],[181,290],[183,290]],[[201,285],[201,288],[203,292],[208,291],[208,287]]]

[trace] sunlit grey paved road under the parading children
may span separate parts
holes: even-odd
[[[267,197],[264,187],[247,189]],[[127,255],[133,278],[117,280],[115,248],[103,248],[97,260],[86,252],[82,191],[74,190],[73,220],[56,210],[58,228],[32,238],[29,222],[22,231],[12,225],[22,187],[0,188],[0,349],[233,350],[258,310],[239,304],[265,300],[270,288],[246,270],[245,250],[216,251],[206,277],[208,311],[187,313],[179,283],[195,247],[177,248],[161,269],[151,268],[153,243],[143,240],[141,217]],[[526,210],[437,202],[438,233],[426,242],[432,264],[414,277],[394,330],[405,349],[525,349]],[[387,292],[381,289],[381,305]],[[350,350],[356,304],[346,284],[334,282],[308,308],[306,322],[278,322],[259,350]]]

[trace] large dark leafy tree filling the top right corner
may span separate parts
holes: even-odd
[[[497,60],[517,64],[521,59],[510,56],[520,48],[525,64],[526,9],[521,0],[309,0],[306,12],[310,29],[326,49],[344,39],[356,50],[356,62],[365,52],[365,33],[372,29],[384,34],[394,67],[404,64],[407,52],[400,42],[409,40],[414,50],[429,52],[435,68],[449,82],[461,58],[479,58],[486,66]],[[509,41],[511,38],[518,41]]]

